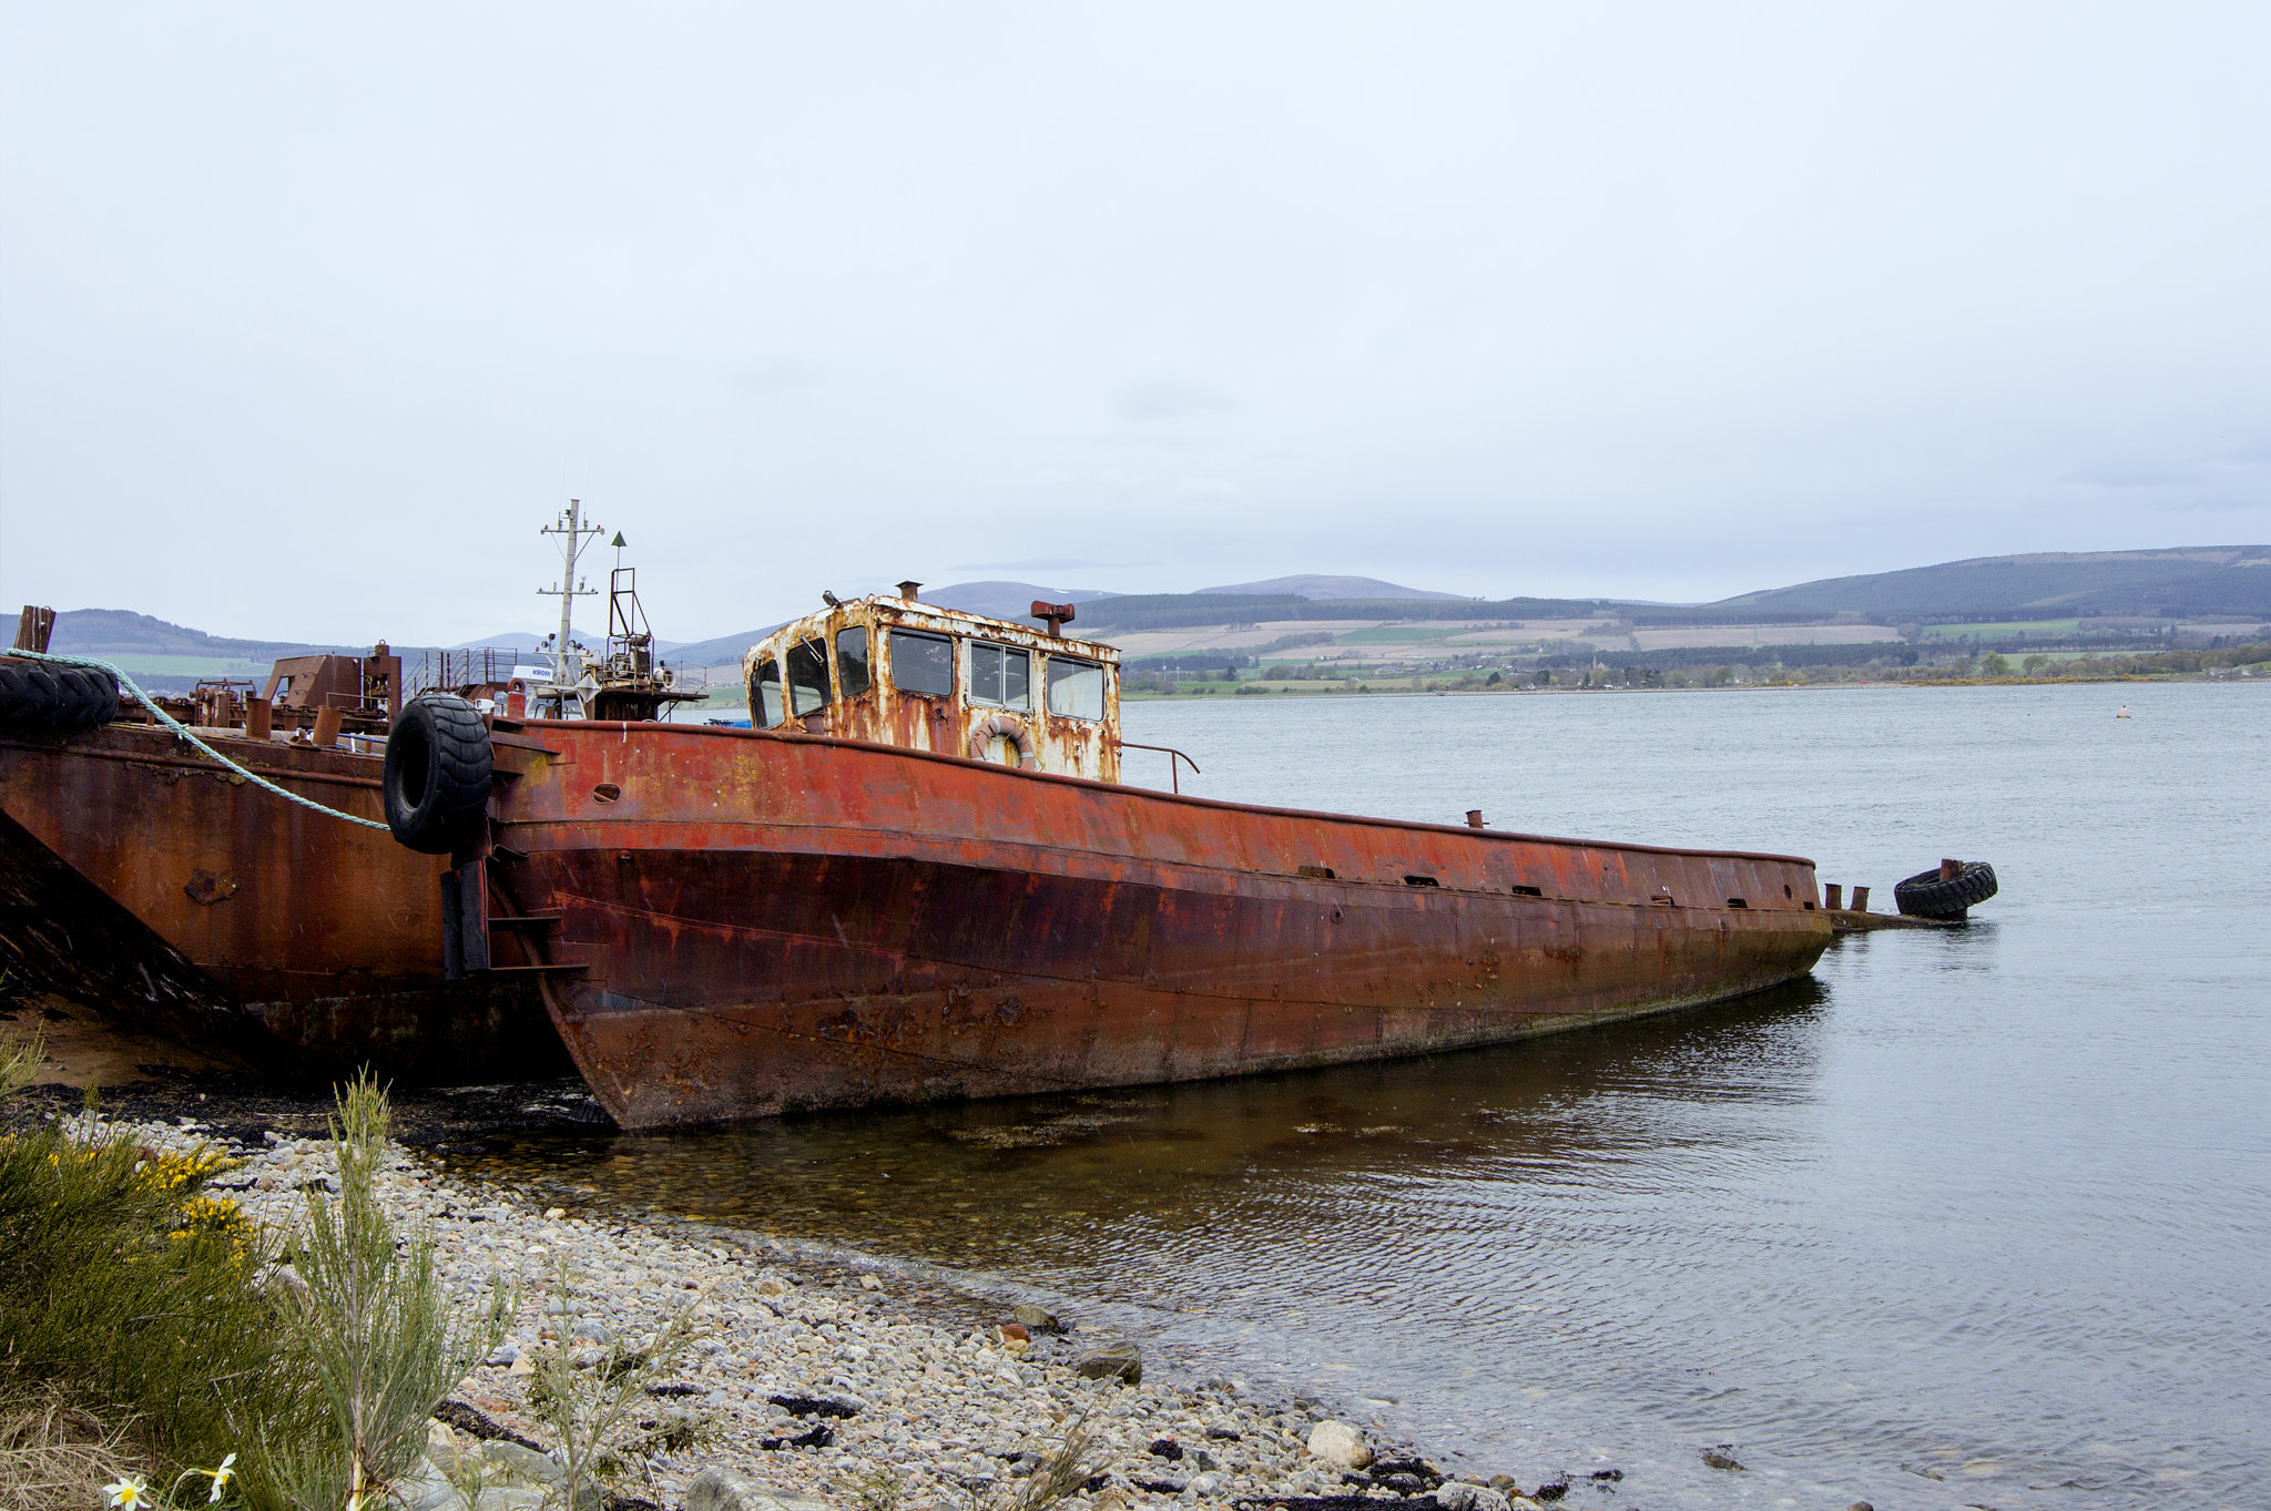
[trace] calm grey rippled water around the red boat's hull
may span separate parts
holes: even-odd
[[[1883,905],[1985,858],[2003,896],[1501,1050],[500,1164],[1013,1277],[1524,1484],[1626,1472],[1569,1506],[2271,1504],[2271,687],[1126,724],[1208,796],[1794,851]]]

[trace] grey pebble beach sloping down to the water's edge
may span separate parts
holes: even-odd
[[[120,1128],[154,1153],[216,1143],[193,1119]],[[268,1130],[259,1143],[243,1134],[218,1143],[236,1164],[209,1191],[263,1227],[288,1227],[309,1193],[336,1189],[320,1139]],[[1140,1345],[1079,1316],[940,1293],[752,1232],[538,1209],[513,1191],[452,1184],[409,1150],[386,1162],[379,1198],[397,1232],[431,1234],[452,1298],[472,1305],[495,1282],[516,1298],[506,1341],[431,1423],[431,1472],[397,1486],[407,1511],[466,1504],[441,1472],[452,1454],[486,1454],[500,1470],[479,1511],[534,1511],[545,1500],[545,1454],[559,1447],[531,1409],[545,1350],[600,1366],[611,1345],[645,1348],[674,1320],[684,1343],[645,1379],[631,1427],[679,1445],[586,1491],[595,1504],[1031,1504],[1033,1477],[1047,1479],[1067,1443],[1081,1450],[1067,1506],[1542,1504],[1506,1477],[1444,1477],[1415,1445],[1376,1441],[1329,1402],[1279,1395],[1267,1382],[1145,1375]],[[1569,1486],[1540,1491],[1569,1495]]]

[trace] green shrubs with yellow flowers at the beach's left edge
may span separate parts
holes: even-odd
[[[36,1064],[36,1041],[0,1044],[0,1098]],[[375,1189],[386,1123],[372,1082],[341,1098],[341,1191],[309,1198],[298,1273],[204,1189],[216,1150],[141,1148],[91,1096],[84,1119],[0,1137],[0,1506],[66,1504],[57,1486],[95,1472],[204,1504],[229,1454],[225,1500],[254,1511],[336,1511],[407,1472],[511,1302],[491,1286],[456,1318],[431,1236],[397,1241]]]

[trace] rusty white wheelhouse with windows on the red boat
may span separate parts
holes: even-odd
[[[831,603],[752,647],[749,726],[1120,780],[1117,649],[1056,622],[938,608],[913,588]]]

